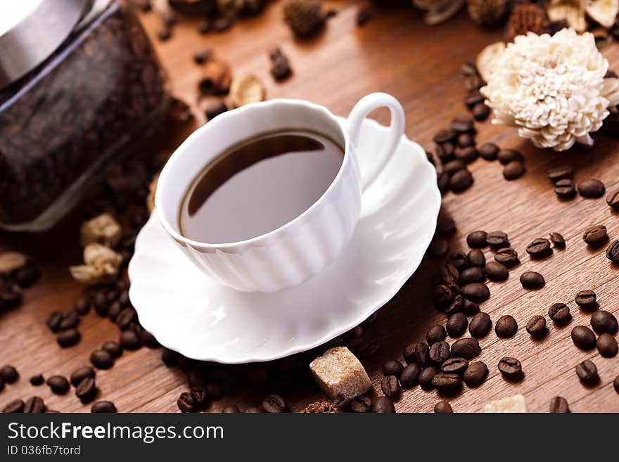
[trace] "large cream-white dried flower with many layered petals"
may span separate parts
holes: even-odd
[[[607,70],[588,32],[529,32],[508,44],[480,91],[494,110],[492,123],[517,127],[540,148],[566,150],[591,145],[589,133],[619,103],[619,80],[605,79]]]

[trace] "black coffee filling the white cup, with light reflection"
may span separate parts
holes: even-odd
[[[323,195],[343,158],[338,143],[310,131],[277,131],[238,143],[189,187],[179,214],[181,234],[219,244],[269,233]]]

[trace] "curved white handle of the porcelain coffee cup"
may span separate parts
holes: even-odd
[[[378,154],[376,164],[362,177],[362,192],[365,192],[367,188],[374,183],[376,177],[378,177],[378,174],[383,171],[389,160],[392,158],[393,153],[395,153],[395,149],[400,143],[400,139],[402,139],[402,134],[404,134],[404,122],[406,120],[406,116],[404,115],[404,110],[402,109],[400,102],[390,94],[386,93],[371,93],[364,96],[357,104],[355,104],[355,107],[352,108],[350,115],[348,116],[348,134],[350,136],[350,143],[352,146],[357,146],[359,143],[359,136],[361,135],[361,124],[363,120],[374,109],[381,108],[383,106],[389,108],[391,113],[389,139],[387,143],[385,143],[385,147],[381,153]]]

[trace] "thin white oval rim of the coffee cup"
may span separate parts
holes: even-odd
[[[268,108],[269,106],[276,106],[276,105],[282,105],[282,104],[283,105],[300,105],[300,106],[305,106],[306,108],[311,108],[312,110],[317,110],[319,113],[323,113],[323,115],[325,115],[326,117],[330,118],[333,122],[335,122],[337,127],[340,129],[342,133],[342,136],[344,139],[344,158],[342,161],[342,165],[340,165],[340,168],[338,169],[338,173],[336,174],[336,177],[333,179],[333,181],[331,181],[331,184],[329,184],[329,186],[326,188],[324,193],[322,193],[322,195],[312,205],[307,207],[306,210],[304,210],[301,214],[299,214],[298,217],[291,219],[290,222],[287,222],[279,226],[278,228],[273,229],[272,231],[269,231],[268,233],[263,233],[253,238],[249,238],[245,240],[238,240],[236,242],[220,243],[220,244],[205,243],[205,242],[201,242],[200,240],[193,240],[191,238],[186,238],[179,231],[174,229],[174,226],[170,224],[170,222],[165,217],[165,214],[162,212],[164,206],[162,205],[162,192],[161,191],[163,190],[163,188],[165,188],[167,178],[170,175],[169,172],[173,168],[174,162],[177,162],[176,159],[179,158],[181,155],[183,155],[184,151],[188,150],[191,144],[197,143],[198,139],[200,139],[203,136],[203,133],[205,131],[208,131],[209,129],[216,129],[218,125],[223,123],[222,121],[230,119],[232,117],[238,117],[242,115],[243,113],[253,110],[255,108],[258,108],[258,107]],[[199,248],[200,250],[234,250],[234,248],[238,246],[246,247],[248,245],[257,243],[260,240],[272,238],[276,234],[283,233],[283,231],[286,231],[287,229],[290,229],[292,226],[295,226],[296,224],[298,224],[299,222],[302,222],[302,220],[304,220],[305,217],[307,217],[307,215],[309,215],[314,210],[316,210],[316,208],[323,201],[325,196],[328,193],[330,193],[333,190],[333,188],[336,187],[336,184],[340,182],[340,179],[343,176],[344,167],[345,165],[347,165],[347,163],[350,163],[350,137],[348,136],[348,132],[343,127],[342,122],[338,119],[338,117],[335,114],[333,114],[330,110],[325,108],[323,105],[312,103],[304,99],[295,99],[295,98],[274,98],[269,101],[249,103],[249,104],[241,106],[241,108],[236,108],[234,110],[226,111],[225,113],[222,113],[218,115],[217,117],[215,117],[215,119],[211,120],[210,122],[203,124],[202,127],[198,127],[198,129],[194,130],[189,136],[187,136],[187,138],[181,143],[181,145],[178,146],[174,150],[174,152],[172,153],[172,155],[170,155],[170,158],[167,160],[167,162],[165,163],[163,169],[161,170],[159,174],[159,179],[157,181],[158,184],[157,184],[157,188],[155,191],[155,213],[157,214],[159,222],[160,224],[162,224],[165,231],[167,231],[167,233],[170,234],[170,236],[172,236],[172,238],[174,238],[174,240],[177,240],[177,242],[179,243],[189,245],[193,248]],[[193,181],[193,178],[191,179],[191,181]],[[189,184],[186,185],[186,188],[189,188],[189,186],[190,186]],[[178,212],[179,211],[176,210],[175,214],[178,214]]]

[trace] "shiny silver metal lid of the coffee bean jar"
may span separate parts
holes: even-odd
[[[0,2],[0,88],[15,82],[56,51],[93,0]]]

